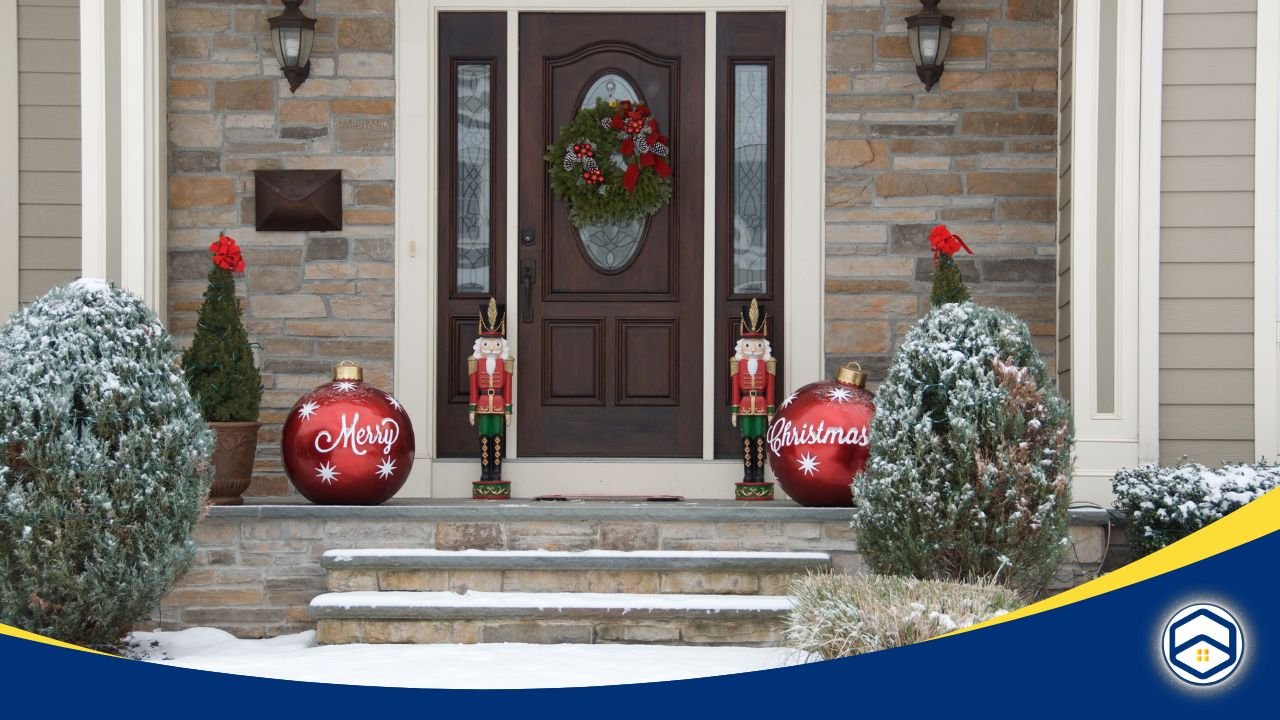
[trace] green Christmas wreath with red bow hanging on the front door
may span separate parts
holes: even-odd
[[[584,108],[545,159],[575,227],[644,219],[671,201],[671,142],[644,104]]]

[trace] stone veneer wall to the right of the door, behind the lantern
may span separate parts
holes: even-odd
[[[928,311],[927,233],[946,223],[974,299],[1030,325],[1055,357],[1057,6],[948,0],[956,18],[932,92],[904,18],[914,0],[827,3],[827,370],[883,378]]]

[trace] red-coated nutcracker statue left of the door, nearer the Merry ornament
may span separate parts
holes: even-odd
[[[507,346],[507,310],[489,299],[480,306],[480,337],[467,359],[471,377],[471,424],[480,432],[480,480],[471,483],[475,500],[507,500],[511,483],[502,479],[502,441],[511,424],[511,378],[516,359]]]

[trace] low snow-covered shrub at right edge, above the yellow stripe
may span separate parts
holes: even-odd
[[[1152,553],[1239,510],[1280,486],[1280,465],[1226,464],[1211,470],[1197,462],[1172,468],[1142,465],[1111,479],[1115,507],[1129,518],[1129,544]]]

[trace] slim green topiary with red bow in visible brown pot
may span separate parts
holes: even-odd
[[[236,297],[233,273],[244,272],[244,258],[236,241],[223,233],[209,250],[214,266],[209,270],[196,337],[182,354],[182,366],[191,395],[218,437],[209,501],[239,505],[253,477],[257,430],[262,425],[257,421],[262,377],[253,364],[253,348]]]

